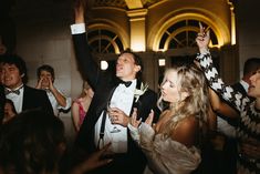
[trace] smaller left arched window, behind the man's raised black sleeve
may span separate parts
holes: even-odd
[[[119,37],[106,29],[91,30],[87,38],[95,53],[119,53],[124,49]]]

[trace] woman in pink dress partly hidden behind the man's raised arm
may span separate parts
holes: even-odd
[[[79,132],[80,127],[84,121],[86,112],[91,105],[92,98],[94,92],[90,84],[84,81],[81,95],[75,99],[72,103],[72,119],[75,131]]]

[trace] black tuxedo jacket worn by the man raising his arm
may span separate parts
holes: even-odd
[[[95,94],[86,113],[85,120],[77,134],[76,147],[93,152],[96,150],[94,144],[94,126],[102,111],[106,108],[106,103],[113,94],[114,89],[118,85],[119,80],[112,72],[102,72],[96,62],[91,55],[91,50],[87,44],[86,35],[73,35],[74,49],[77,59],[77,66],[83,78],[91,84]],[[138,83],[138,82],[137,82]],[[135,104],[138,115],[143,121],[148,116],[152,109],[156,108],[157,95],[152,90],[147,90],[138,102]],[[132,105],[133,110],[133,105]],[[123,162],[122,162],[123,161]],[[118,163],[117,163],[118,162]],[[116,166],[116,163],[121,166]],[[122,164],[123,163],[123,164]],[[146,160],[144,154],[133,142],[128,133],[128,152],[118,161],[114,160],[108,167],[105,167],[104,173],[143,173]],[[115,166],[114,171],[110,167]],[[121,171],[122,170],[122,171]]]

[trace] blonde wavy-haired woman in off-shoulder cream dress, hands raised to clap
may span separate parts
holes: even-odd
[[[136,120],[135,111],[128,127],[147,157],[146,174],[188,174],[201,161],[199,142],[210,111],[206,79],[194,64],[171,68],[160,89],[157,124],[152,126],[153,111],[145,122]]]

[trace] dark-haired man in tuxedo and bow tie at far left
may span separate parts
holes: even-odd
[[[18,55],[3,55],[1,59],[1,83],[4,86],[6,98],[12,100],[18,113],[41,108],[53,113],[46,92],[25,85],[25,62]]]

